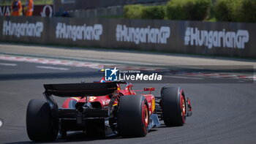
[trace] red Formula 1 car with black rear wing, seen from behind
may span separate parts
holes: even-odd
[[[121,85],[126,84],[124,89]],[[30,140],[56,140],[60,133],[83,131],[106,137],[143,137],[149,129],[160,126],[182,126],[192,115],[189,99],[181,88],[164,86],[161,96],[136,94],[127,82],[69,83],[44,85],[47,100],[32,99],[26,112],[26,129]],[[69,97],[61,108],[53,96]]]

